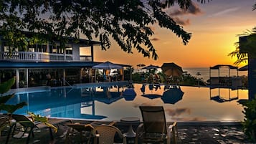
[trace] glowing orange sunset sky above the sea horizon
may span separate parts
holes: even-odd
[[[154,25],[155,34],[151,39],[158,53],[158,60],[143,57],[136,49],[133,54],[123,52],[116,42],[110,49],[102,51],[95,47],[95,61],[110,61],[120,64],[155,64],[175,62],[181,67],[211,67],[215,64],[233,64],[236,60],[227,56],[238,42],[237,34],[256,27],[252,6],[255,0],[212,0],[207,4],[194,1],[190,11],[182,12],[176,6],[168,10],[176,22],[180,22],[186,32],[191,32],[189,44],[184,46],[182,40],[168,29]],[[244,64],[240,64],[242,67]]]

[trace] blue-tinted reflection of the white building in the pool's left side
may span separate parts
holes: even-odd
[[[27,111],[50,117],[75,117],[101,120],[104,115],[97,115],[93,96],[81,97],[81,89],[58,88],[50,91],[22,93],[16,95],[9,104],[27,102],[27,106],[16,112],[27,115]]]

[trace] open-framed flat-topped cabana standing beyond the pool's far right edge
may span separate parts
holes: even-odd
[[[228,74],[226,76],[220,75],[220,69],[227,68]],[[213,77],[212,76],[212,70],[217,69],[218,70],[218,76]],[[236,76],[230,76],[230,70],[235,70],[237,72]],[[222,87],[231,87],[233,89],[237,89],[239,87],[242,87],[242,78],[238,77],[238,68],[234,67],[232,65],[227,64],[217,64],[214,67],[210,67],[209,70],[210,75],[210,85],[212,86],[222,86]]]

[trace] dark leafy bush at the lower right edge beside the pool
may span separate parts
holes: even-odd
[[[241,102],[244,105],[245,119],[242,122],[245,135],[247,135],[252,142],[256,142],[256,100],[248,100]]]

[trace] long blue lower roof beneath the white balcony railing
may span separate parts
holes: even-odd
[[[65,68],[65,67],[93,67],[102,62],[10,62],[0,61],[1,69],[11,68]],[[123,67],[131,67],[126,64],[120,64]]]

